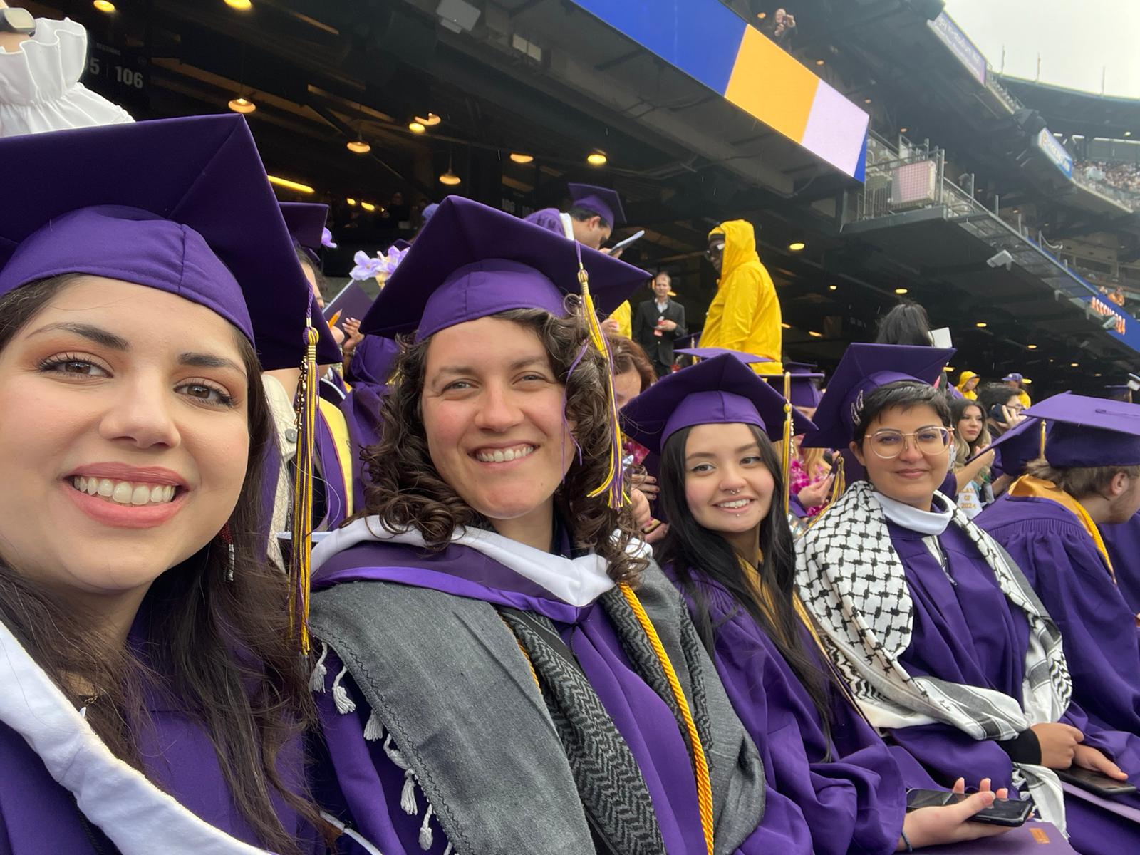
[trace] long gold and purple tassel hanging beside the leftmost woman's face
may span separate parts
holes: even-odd
[[[317,432],[317,331],[306,324],[304,361],[296,386],[296,458],[293,473],[293,552],[290,560],[290,637],[309,653],[309,576],[312,555],[312,472]]]

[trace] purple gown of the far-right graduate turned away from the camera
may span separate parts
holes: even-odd
[[[1073,700],[1101,727],[1140,734],[1135,611],[1080,520],[1050,499],[1007,495],[977,522],[1013,556],[1057,621]]]

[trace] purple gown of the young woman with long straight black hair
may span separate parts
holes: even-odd
[[[757,832],[764,845],[780,855],[894,852],[906,791],[886,743],[841,697],[832,698],[829,742],[811,695],[775,644],[727,591],[698,584],[716,627],[720,682],[764,759],[767,798]],[[816,645],[806,629],[803,643]],[[937,787],[929,777],[921,785]]]

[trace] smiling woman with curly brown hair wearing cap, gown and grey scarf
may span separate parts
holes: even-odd
[[[416,332],[366,515],[314,555],[312,683],[343,808],[385,855],[731,853],[763,813],[757,751],[614,507],[579,270],[602,308],[646,278],[449,197],[363,325]]]

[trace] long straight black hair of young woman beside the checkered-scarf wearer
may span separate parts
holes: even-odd
[[[760,522],[760,564],[757,568],[767,597],[758,597],[748,585],[740,567],[741,556],[732,545],[716,531],[701,526],[689,510],[685,500],[685,446],[692,427],[674,433],[661,449],[659,500],[669,521],[669,531],[661,543],[660,560],[662,564],[671,564],[682,589],[693,602],[693,622],[709,656],[714,654],[718,625],[714,624],[709,613],[709,598],[701,581],[715,583],[727,591],[738,608],[743,609],[772,640],[811,697],[824,731],[830,733],[828,689],[831,671],[822,665],[822,658],[813,657],[805,649],[803,622],[793,600],[796,553],[788,519],[776,505],[776,497],[783,495],[780,456],[759,427],[749,425],[749,430],[759,446],[760,461],[775,482],[772,510]]]

